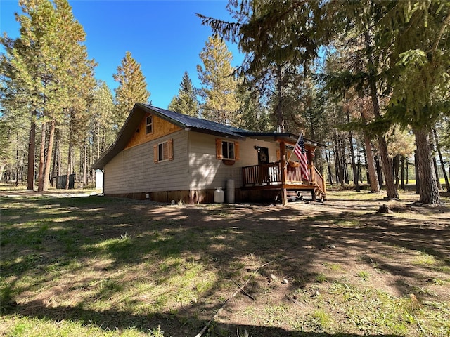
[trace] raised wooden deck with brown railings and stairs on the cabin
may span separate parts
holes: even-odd
[[[311,192],[313,200],[326,199],[326,185],[321,173],[314,165],[309,165],[309,180],[302,180],[300,167],[285,168],[285,181],[282,179],[280,161],[269,164],[245,166],[242,168],[242,190],[286,190]]]

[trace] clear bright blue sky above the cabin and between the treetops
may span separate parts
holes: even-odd
[[[197,65],[199,53],[212,34],[202,26],[195,13],[232,20],[223,0],[69,0],[75,18],[86,32],[89,58],[98,63],[96,79],[105,81],[113,91],[117,72],[126,51],[141,64],[150,100],[166,108],[178,93],[181,78],[188,72],[195,87],[200,87]],[[18,0],[0,0],[0,32],[18,37],[14,13],[22,13]],[[227,44],[233,53],[232,65],[243,56],[236,45]],[[114,92],[113,92],[114,94]]]

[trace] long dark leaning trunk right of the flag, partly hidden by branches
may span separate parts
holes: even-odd
[[[373,113],[375,114],[375,119],[380,119],[381,117],[380,102],[378,101],[378,91],[375,79],[375,66],[373,65],[371,38],[369,36],[368,30],[364,32],[364,39],[366,42],[366,54],[368,56],[368,72],[370,74],[369,86],[373,105]],[[382,133],[377,133],[377,136],[378,136],[378,150],[380,151],[382,164],[381,168],[383,169],[383,173],[385,174],[387,198],[398,199],[399,193],[397,192],[397,188],[395,187],[394,183],[394,175],[392,174],[392,163],[389,158],[389,154],[387,152],[386,140]]]

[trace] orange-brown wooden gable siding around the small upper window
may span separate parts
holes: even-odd
[[[146,119],[150,114],[146,114],[141,120],[138,128],[136,128],[136,133],[129,139],[127,146],[125,148],[133,147],[136,145],[141,145],[147,143],[150,140],[155,140],[161,138],[162,136],[169,135],[176,131],[181,131],[179,126],[176,126],[160,117],[153,115],[153,133],[146,134]]]

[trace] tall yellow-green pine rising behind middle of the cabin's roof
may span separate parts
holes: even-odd
[[[231,76],[233,59],[225,42],[219,37],[208,37],[200,53],[202,65],[197,65],[198,78],[202,83],[200,105],[202,117],[221,124],[236,125],[239,104],[236,98],[238,85]]]

